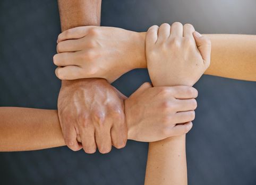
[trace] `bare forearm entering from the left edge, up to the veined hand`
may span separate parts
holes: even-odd
[[[0,107],[0,151],[64,146],[57,110]]]

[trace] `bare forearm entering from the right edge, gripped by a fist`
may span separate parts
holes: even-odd
[[[146,32],[140,33],[141,38],[145,36]],[[207,34],[206,36],[211,40],[212,49],[211,64],[204,74],[256,81],[256,35]],[[141,39],[140,42],[144,40]],[[140,58],[143,56],[144,52],[141,53]],[[146,58],[140,62],[140,66],[147,67]]]

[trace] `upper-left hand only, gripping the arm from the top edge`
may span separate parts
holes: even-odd
[[[116,27],[80,26],[59,34],[53,58],[62,80],[105,78],[113,82],[135,68],[146,68],[144,33]]]

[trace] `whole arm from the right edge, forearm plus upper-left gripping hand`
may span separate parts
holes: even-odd
[[[79,33],[75,33],[76,31]],[[91,34],[93,32],[97,34]],[[205,36],[212,43],[212,51],[211,64],[204,74],[256,81],[256,35],[207,34]],[[78,39],[80,37],[85,38]],[[131,68],[147,68],[144,47],[145,37],[145,32],[137,33],[115,27],[83,26],[71,29],[68,36],[66,33],[59,35],[59,44],[73,50],[72,44],[69,47],[67,45],[76,43],[75,40],[63,42],[63,44],[61,44],[61,41],[78,39],[77,42],[81,42],[83,40],[85,42],[83,45],[88,45],[85,48],[90,48],[91,58],[87,58],[87,60],[80,58],[80,64],[78,65],[77,56],[71,56],[69,65],[78,65],[80,71],[86,71],[86,73],[81,76],[74,76],[71,70],[62,70],[63,73],[59,78],[89,78],[93,73],[93,77],[106,78],[112,82]],[[97,41],[97,43],[92,44],[94,41]],[[87,52],[83,49],[82,51]],[[86,58],[86,56],[83,57]],[[60,67],[67,66],[64,55],[56,57],[55,63]],[[102,71],[102,66],[108,71],[112,71],[112,73]]]

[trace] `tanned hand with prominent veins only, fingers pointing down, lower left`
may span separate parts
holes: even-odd
[[[94,153],[97,147],[100,153],[108,153],[112,145],[124,147],[124,98],[105,79],[62,81],[58,116],[67,146],[73,151],[83,147],[86,153]]]

